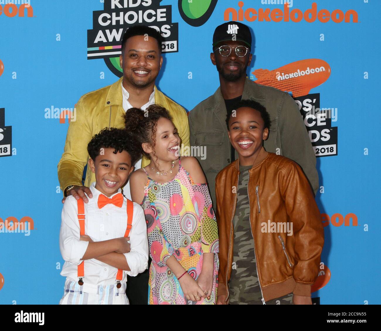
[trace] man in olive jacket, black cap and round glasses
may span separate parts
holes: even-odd
[[[219,72],[220,87],[188,116],[191,146],[206,148],[205,157],[197,158],[207,177],[214,208],[216,176],[238,158],[227,136],[226,115],[241,99],[259,102],[270,114],[269,138],[264,141],[266,151],[294,160],[315,193],[319,187],[314,149],[298,106],[288,93],[256,84],[246,77],[252,58],[250,50],[251,33],[245,24],[231,21],[216,28],[210,59]]]

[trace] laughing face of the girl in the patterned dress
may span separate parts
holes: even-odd
[[[171,162],[179,158],[181,139],[171,120],[164,117],[157,120],[155,139],[154,148],[148,143],[142,144],[144,151],[150,154],[151,159],[156,160],[157,157],[160,163],[160,161]]]

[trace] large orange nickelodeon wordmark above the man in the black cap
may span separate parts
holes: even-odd
[[[280,8],[259,8],[255,10],[254,8],[247,8],[243,10],[243,1],[238,2],[239,10],[234,8],[226,8],[224,12],[224,21],[248,21],[248,22],[301,22],[303,19],[307,23],[313,23],[319,20],[322,23],[327,23],[332,20],[335,23],[346,22],[357,23],[359,22],[359,14],[357,11],[351,9],[347,10],[345,13],[342,10],[336,9],[330,13],[327,9],[317,10],[317,3],[312,3],[312,8],[307,9],[304,13],[298,8],[290,11],[288,3],[284,3],[283,11]],[[231,15],[230,15],[231,14]],[[230,19],[230,16],[232,17]]]

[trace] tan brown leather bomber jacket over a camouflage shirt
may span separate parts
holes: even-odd
[[[261,152],[266,153],[264,149]],[[320,212],[311,187],[299,165],[274,153],[268,153],[249,173],[250,224],[262,301],[291,292],[310,296],[311,285],[318,276],[324,242]],[[219,235],[217,295],[227,295],[226,301],[229,298],[228,283],[233,262],[233,217],[238,176],[237,159],[216,177]],[[292,222],[292,235],[280,227],[268,229],[264,224],[269,222]],[[271,232],[264,232],[263,229]]]

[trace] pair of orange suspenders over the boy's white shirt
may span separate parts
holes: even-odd
[[[77,207],[78,207],[78,222],[79,222],[79,229],[80,229],[80,235],[85,235],[85,205],[83,203],[82,198],[77,200]],[[130,235],[130,230],[132,228],[132,219],[134,215],[134,203],[131,200],[127,199],[127,228],[126,232],[124,233],[124,237],[128,237]],[[85,261],[82,261],[80,265],[78,265],[78,284],[83,285],[83,277],[85,277],[85,270],[84,270],[84,263]],[[117,282],[117,288],[120,288],[122,286],[120,284],[120,281],[123,279],[123,270],[118,269],[116,282]]]

